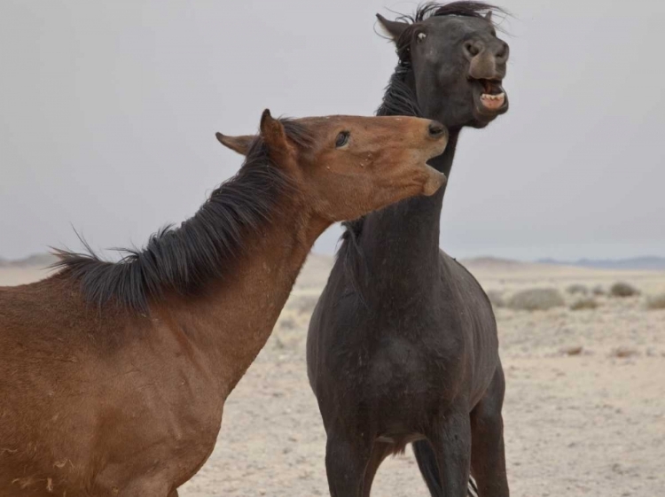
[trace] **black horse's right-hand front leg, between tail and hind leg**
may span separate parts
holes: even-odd
[[[465,497],[471,465],[468,409],[456,408],[447,412],[442,421],[426,435],[438,465],[442,497]]]

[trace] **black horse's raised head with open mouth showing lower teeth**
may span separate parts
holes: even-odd
[[[497,38],[492,12],[480,2],[426,4],[412,17],[380,24],[397,46],[406,82],[422,117],[449,128],[484,128],[508,111],[502,87],[508,44]]]

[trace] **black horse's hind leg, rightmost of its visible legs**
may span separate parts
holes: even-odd
[[[488,391],[471,412],[471,468],[480,497],[508,497],[505,476],[504,371],[499,364]]]

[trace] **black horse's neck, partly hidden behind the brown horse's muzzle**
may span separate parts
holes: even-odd
[[[391,79],[378,114],[422,116],[411,74],[400,69]],[[459,130],[451,129],[446,151],[429,161],[449,178],[458,136]],[[348,225],[343,250],[347,260],[354,262],[350,269],[356,273],[359,290],[381,293],[389,289],[406,303],[430,288],[423,283],[440,277],[439,233],[445,190],[444,186],[432,197],[404,200]]]

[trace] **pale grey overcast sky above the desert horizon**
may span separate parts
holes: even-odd
[[[511,110],[467,129],[442,248],[519,260],[665,256],[665,3],[497,2]],[[628,4],[626,4],[628,5]],[[3,0],[0,258],[143,245],[242,159],[262,110],[374,112],[394,0]],[[661,62],[659,62],[661,61]],[[317,242],[332,253],[338,226]]]

